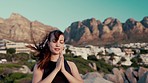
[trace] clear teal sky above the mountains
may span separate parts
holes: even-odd
[[[90,18],[141,21],[148,16],[148,0],[1,0],[0,17],[6,19],[12,13],[64,31],[71,23]]]

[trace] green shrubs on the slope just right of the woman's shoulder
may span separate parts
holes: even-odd
[[[85,60],[81,57],[74,58],[73,55],[64,55],[66,60],[73,61],[81,74],[95,71],[88,66],[89,63],[96,63],[97,71],[104,73],[111,73],[114,66],[107,64],[104,59],[96,59],[96,56],[89,56],[89,60]]]

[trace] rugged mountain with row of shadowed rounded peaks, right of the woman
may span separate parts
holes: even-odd
[[[112,17],[103,22],[95,18],[86,19],[73,22],[64,34],[66,42],[73,45],[148,42],[148,16],[142,21],[129,18],[125,23]]]

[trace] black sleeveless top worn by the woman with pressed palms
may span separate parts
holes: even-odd
[[[45,79],[55,69],[56,62],[49,61],[48,65],[49,66],[44,69],[42,80]],[[66,71],[71,74],[70,67],[66,60],[64,60],[64,66],[65,66]],[[69,83],[69,82],[67,78],[64,76],[64,74],[61,71],[59,71],[57,75],[55,76],[55,78],[53,79],[52,83]]]

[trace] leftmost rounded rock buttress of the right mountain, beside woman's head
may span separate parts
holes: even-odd
[[[77,41],[79,41],[79,43],[82,43],[83,41],[92,40],[92,34],[89,27],[83,25],[81,22],[72,23],[64,34],[67,42],[77,43]]]

